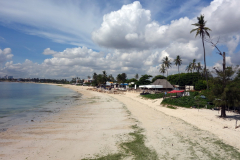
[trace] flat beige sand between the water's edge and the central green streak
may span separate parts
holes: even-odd
[[[64,87],[84,92],[78,86]],[[0,133],[0,159],[65,160],[115,153],[116,144],[132,131],[133,124],[122,103],[100,93],[84,92],[75,106],[41,122]]]

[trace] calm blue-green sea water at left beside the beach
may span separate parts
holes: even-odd
[[[0,82],[0,131],[74,104],[79,93],[56,85]]]

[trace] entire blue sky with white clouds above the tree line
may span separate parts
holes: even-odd
[[[159,75],[164,57],[182,59],[180,72],[203,61],[200,37],[190,31],[201,14],[211,41],[240,64],[239,0],[1,0],[0,77],[82,79],[106,71]],[[207,68],[222,57],[205,42]],[[166,74],[165,74],[166,76]]]

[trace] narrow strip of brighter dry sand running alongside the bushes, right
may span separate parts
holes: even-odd
[[[238,118],[240,118],[239,114],[227,112],[227,116],[230,118],[222,119],[219,118],[220,111],[209,109],[188,109],[182,107],[178,107],[178,109],[173,110],[160,105],[162,99],[146,100],[141,98],[137,93],[127,92],[126,95],[115,97],[119,100],[123,100],[123,98],[128,98],[130,99],[129,101],[134,100],[145,104],[149,108],[160,111],[166,115],[180,118],[185,122],[190,123],[202,130],[206,130],[217,135],[225,143],[230,144],[240,150],[240,127],[235,129],[236,120],[231,118],[233,116],[237,116]],[[238,121],[237,123],[239,126],[240,121]]]

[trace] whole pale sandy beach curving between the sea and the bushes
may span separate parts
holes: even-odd
[[[137,93],[63,87],[83,95],[77,105],[1,132],[0,159],[79,160],[118,153],[137,159],[120,147],[133,141],[133,126],[143,129],[144,145],[156,153],[148,159],[240,159],[240,128],[235,129],[232,113],[224,120],[218,111],[169,109],[160,105],[161,99],[146,100]]]

